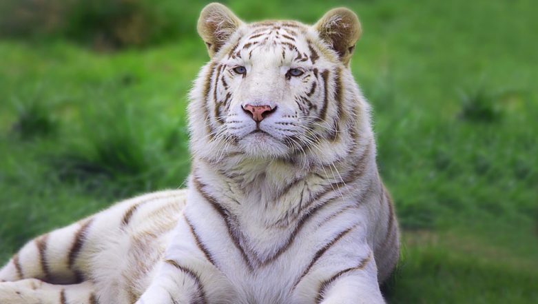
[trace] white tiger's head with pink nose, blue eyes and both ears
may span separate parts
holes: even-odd
[[[244,23],[211,3],[198,33],[211,61],[190,93],[195,155],[331,163],[369,130],[368,105],[349,70],[361,34],[351,10],[330,10],[313,26]]]

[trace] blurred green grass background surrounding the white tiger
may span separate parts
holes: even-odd
[[[364,35],[352,70],[403,230],[390,303],[538,303],[538,3],[223,1]],[[179,188],[206,2],[0,1],[0,262],[118,199]]]

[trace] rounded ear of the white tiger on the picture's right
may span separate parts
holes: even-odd
[[[348,65],[355,43],[362,33],[357,15],[347,8],[334,8],[324,14],[314,28],[320,38],[338,53],[340,61]]]

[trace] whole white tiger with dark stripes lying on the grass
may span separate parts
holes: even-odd
[[[313,26],[200,14],[186,190],[145,194],[26,244],[0,303],[384,303],[399,257],[345,8]]]

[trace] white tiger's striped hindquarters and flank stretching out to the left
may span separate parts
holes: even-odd
[[[76,291],[79,294],[74,296],[74,301],[68,302],[64,294],[65,303],[78,303],[81,297],[101,298],[102,303],[134,303],[149,285],[156,261],[163,256],[185,199],[185,190],[145,194],[39,236],[0,270],[0,280],[16,282],[37,278],[52,284],[48,294],[54,298],[62,298],[65,289],[53,285],[90,281],[89,288]],[[15,295],[17,292],[36,293],[38,301],[41,295],[33,289],[41,284],[30,280],[12,292]],[[9,297],[3,295],[0,288],[0,299],[5,298]],[[28,298],[32,296],[26,296],[23,301],[31,303]]]

